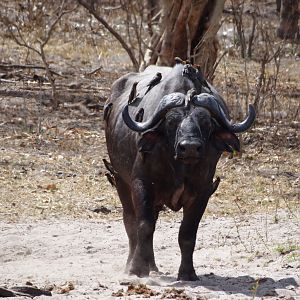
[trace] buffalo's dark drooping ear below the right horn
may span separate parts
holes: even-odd
[[[213,143],[214,146],[219,151],[227,151],[227,152],[239,152],[240,151],[240,141],[238,137],[226,130],[218,130],[213,134]]]

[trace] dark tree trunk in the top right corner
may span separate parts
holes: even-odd
[[[280,24],[277,36],[281,39],[299,38],[299,0],[281,0]]]

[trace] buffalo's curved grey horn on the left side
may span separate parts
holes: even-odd
[[[122,117],[125,124],[133,131],[144,132],[153,128],[164,116],[166,113],[174,107],[183,106],[185,101],[185,95],[182,93],[172,93],[164,96],[159,102],[153,117],[145,122],[136,122],[134,121],[128,111],[128,105],[126,105],[122,111]]]

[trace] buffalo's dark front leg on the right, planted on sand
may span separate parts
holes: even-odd
[[[198,280],[194,265],[193,253],[196,244],[196,235],[199,222],[206,208],[208,198],[196,202],[188,208],[183,208],[183,220],[179,229],[178,242],[181,251],[181,263],[178,272],[178,280]]]

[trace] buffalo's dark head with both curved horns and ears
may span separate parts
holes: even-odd
[[[134,121],[129,115],[128,105],[122,115],[131,130],[142,133],[147,139],[147,143],[143,143],[147,145],[146,151],[157,142],[154,135],[160,134],[174,158],[188,164],[205,158],[211,147],[218,152],[239,151],[235,133],[246,131],[255,120],[255,110],[249,105],[246,119],[241,123],[231,123],[213,95],[197,95],[194,90],[188,91],[187,95],[171,93],[164,96],[152,117],[145,122]]]

